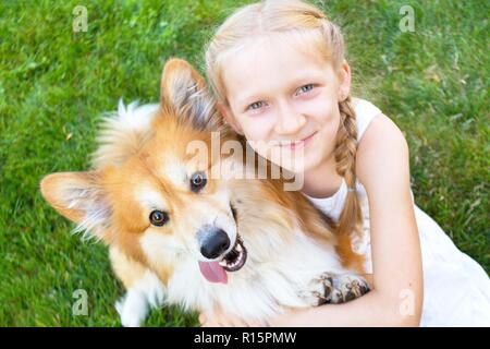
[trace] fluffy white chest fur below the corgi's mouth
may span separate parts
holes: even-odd
[[[247,238],[244,240],[247,246]],[[264,240],[267,240],[266,234]],[[348,273],[333,250],[320,248],[302,231],[297,231],[293,241],[280,251],[279,255],[265,258],[266,263],[249,261],[240,272],[229,273],[228,285],[207,281],[193,258],[179,261],[169,280],[168,302],[209,314],[215,304],[219,304],[225,313],[250,321],[267,321],[281,313],[283,306],[310,306],[301,294],[322,273]]]

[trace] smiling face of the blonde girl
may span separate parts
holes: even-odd
[[[223,67],[229,105],[220,110],[258,154],[294,172],[331,159],[338,104],[351,84],[346,62],[335,72],[331,63],[269,37],[247,44]]]

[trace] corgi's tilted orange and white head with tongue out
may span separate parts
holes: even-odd
[[[169,60],[160,104],[120,105],[106,119],[86,172],[42,179],[41,193],[61,215],[114,244],[162,278],[191,256],[213,282],[246,262],[229,183],[213,179],[211,132],[233,139],[204,79],[187,62]],[[199,152],[200,151],[200,152]]]

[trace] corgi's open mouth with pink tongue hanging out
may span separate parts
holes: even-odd
[[[236,237],[235,245],[220,262],[199,261],[199,269],[209,282],[228,282],[226,272],[240,270],[247,260],[247,250],[240,236]]]

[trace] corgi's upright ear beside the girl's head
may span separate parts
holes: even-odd
[[[222,120],[205,79],[185,60],[170,59],[161,76],[160,103],[177,118],[185,118],[198,130],[217,130]]]

